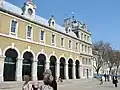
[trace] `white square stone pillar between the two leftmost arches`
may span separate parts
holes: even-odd
[[[16,62],[16,80],[17,81],[22,81],[22,64],[23,64],[23,59],[18,58]]]

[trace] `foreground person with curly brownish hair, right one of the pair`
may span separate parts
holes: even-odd
[[[53,90],[53,88],[50,86],[52,81],[52,72],[49,69],[46,69],[43,74],[43,85],[40,86],[39,90]]]

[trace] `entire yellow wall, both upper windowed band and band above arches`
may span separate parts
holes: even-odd
[[[17,39],[13,39],[13,38],[8,38],[8,37],[3,37],[0,36],[0,42],[2,42],[2,44],[0,44],[0,48],[2,49],[2,51],[8,47],[11,46],[12,43],[15,43],[15,47],[20,51],[20,53],[22,53],[25,49],[28,49],[28,46],[31,47],[31,50],[33,50],[33,52],[35,53],[35,55],[37,55],[37,53],[41,52],[41,50],[43,49],[44,53],[47,54],[47,56],[49,57],[50,54],[53,53],[53,51],[55,51],[55,55],[59,58],[61,55],[64,54],[65,58],[69,58],[70,56],[73,57],[73,59],[75,60],[77,57],[79,58],[80,54],[77,53],[73,53],[73,52],[69,52],[69,51],[64,51],[64,50],[60,50],[57,48],[51,48],[48,46],[43,46],[40,45],[40,31],[44,30],[45,31],[45,44],[46,45],[50,45],[51,46],[51,40],[52,40],[52,34],[56,35],[56,47],[61,48],[61,36],[64,37],[65,40],[65,49],[69,50],[68,46],[69,46],[69,40],[72,41],[72,51],[76,51],[76,42],[80,42],[77,39],[73,39],[72,37],[69,36],[65,36],[59,32],[55,32],[53,30],[50,30],[49,28],[46,28],[44,26],[40,26],[40,25],[35,25],[32,22],[29,21],[25,21],[25,20],[21,20],[18,17],[12,16],[12,15],[8,15],[6,13],[1,13],[0,12],[0,18],[4,18],[4,19],[0,19],[0,33],[8,35],[9,36],[9,30],[10,30],[10,20],[15,19],[18,22],[18,38],[21,39],[26,39],[26,28],[27,25],[31,25],[33,27],[33,41],[37,42],[37,44],[35,43],[29,43],[29,42],[25,42],[25,41],[20,41]],[[79,43],[78,43],[79,45]],[[78,46],[79,47],[79,46]],[[80,60],[80,58],[79,58]]]

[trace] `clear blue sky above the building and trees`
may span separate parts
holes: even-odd
[[[19,7],[26,0],[7,0]],[[103,40],[120,49],[120,0],[33,0],[37,14],[49,19],[54,15],[58,24],[72,16],[88,25],[93,42]]]

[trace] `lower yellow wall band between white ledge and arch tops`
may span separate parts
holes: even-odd
[[[75,60],[79,56],[79,54],[70,53],[68,51],[45,47],[45,46],[42,46],[39,44],[28,43],[28,42],[24,42],[24,41],[12,39],[12,38],[7,38],[7,37],[3,37],[3,36],[0,36],[0,42],[2,42],[2,44],[0,44],[2,51],[6,47],[11,46],[12,43],[14,43],[15,47],[20,51],[21,55],[22,55],[22,52],[24,50],[28,49],[28,46],[30,46],[31,50],[35,53],[35,55],[37,55],[37,53],[41,52],[41,50],[43,49],[43,52],[47,54],[47,57],[49,57],[51,54],[53,54],[53,51],[55,51],[55,55],[57,56],[58,59],[63,54],[66,59],[70,58],[70,55],[71,55],[73,60]],[[80,60],[80,58],[79,58],[79,60]]]

